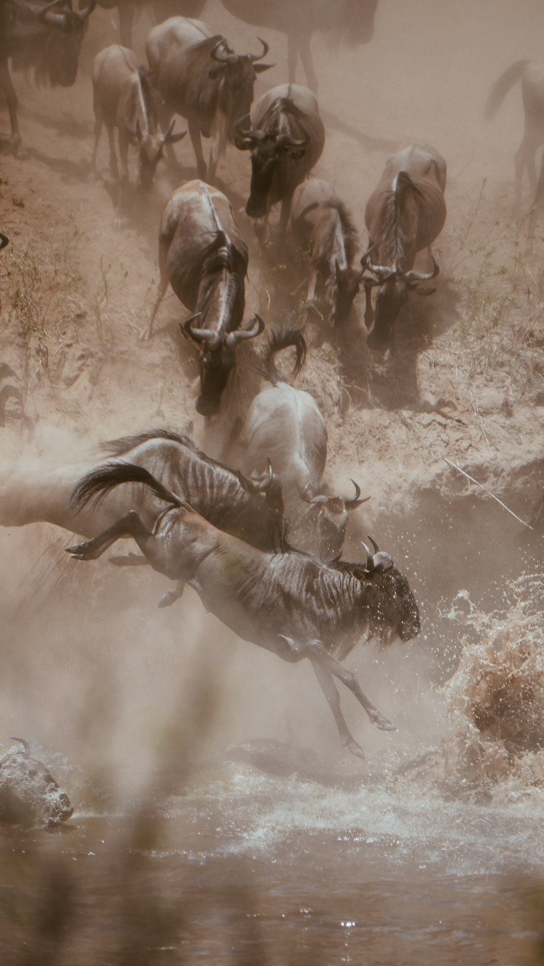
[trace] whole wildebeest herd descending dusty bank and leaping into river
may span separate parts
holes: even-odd
[[[244,322],[250,240],[237,223],[228,188],[225,194],[215,187],[216,170],[228,144],[249,153],[245,213],[253,220],[255,257],[262,258],[264,270],[270,252],[277,251],[279,257],[291,231],[294,243],[309,252],[306,307],[320,294],[326,324],[338,329],[348,321],[362,289],[367,345],[387,351],[410,293],[428,296],[435,291],[425,283],[439,274],[431,246],[445,222],[446,164],[430,145],[414,144],[389,157],[366,205],[368,242],[359,250],[349,206],[333,185],[312,176],[326,128],[315,94],[309,40],[312,29],[341,24],[355,43],[366,43],[372,37],[377,0],[337,5],[327,0],[222,2],[247,22],[288,35],[288,82],[273,86],[253,103],[257,75],[272,67],[264,61],[270,52],[266,40],[256,38],[254,51],[238,53],[213,23],[183,15],[164,18],[179,14],[180,7],[199,14],[205,0],[193,2],[190,10],[179,0],[174,11],[166,9],[166,0],[156,0],[160,22],[147,38],[148,65],[139,65],[129,48],[132,14],[123,14],[128,5],[119,0],[125,45],[111,44],[94,63],[90,181],[96,177],[105,126],[120,200],[129,181],[129,145],[137,149],[137,185],[149,191],[163,153],[175,161],[173,145],[185,136],[185,131],[174,133],[175,115],[186,119],[198,178],[178,187],[162,212],[157,300],[140,338],[154,337],[157,311],[171,285],[190,313],[180,325],[198,347],[200,392],[195,406],[207,419],[222,412],[237,348],[246,340],[258,340],[267,384],[243,422],[230,427],[239,463],[231,468],[215,461],[186,435],[149,430],[107,443],[105,462],[43,471],[39,486],[28,485],[17,466],[6,469],[0,523],[64,526],[86,538],[68,548],[78,560],[96,559],[119,538],[132,538],[141,555],[115,556],[112,561],[150,564],[175,582],[160,606],[172,604],[188,583],[205,608],[242,639],[285,661],[308,658],[343,745],[361,756],[343,718],[333,677],[358,698],[371,722],[392,729],[342,661],[364,637],[383,644],[415,638],[420,629],[417,604],[405,575],[372,538],[372,548],[362,544],[362,560],[341,559],[349,515],[364,499],[357,482],[353,496],[329,492],[323,479],[328,442],[323,413],[310,394],[287,382],[276,367],[275,356],[291,347],[296,352],[294,375],[301,371],[303,327],[294,322],[273,329],[259,315]],[[75,13],[71,0],[43,7],[0,0],[0,88],[9,106],[15,151],[20,134],[8,61],[14,70],[34,68],[37,83],[71,85],[94,7],[92,0]],[[298,53],[309,87],[294,83]],[[541,73],[527,62],[513,65],[488,103],[492,114],[509,87],[523,79],[527,131],[516,159],[516,185],[519,189],[527,166],[536,192],[534,212],[544,195],[544,173],[537,184],[533,161],[535,147],[544,139]],[[202,137],[211,139],[208,162]],[[228,170],[225,180],[228,184]],[[276,205],[279,222],[273,226],[269,221]],[[0,235],[0,247],[7,243]],[[416,255],[423,251],[427,268],[415,270]],[[309,312],[305,326],[311,326]]]

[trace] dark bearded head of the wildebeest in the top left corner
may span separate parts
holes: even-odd
[[[51,87],[72,87],[75,83],[81,43],[96,2],[91,0],[78,13],[72,11],[72,0],[53,0],[37,14],[48,28],[36,66],[37,84],[48,81]]]

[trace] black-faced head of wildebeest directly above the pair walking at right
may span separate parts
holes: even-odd
[[[272,105],[273,106],[273,105]],[[300,160],[310,142],[310,134],[298,121],[302,136],[278,133],[275,126],[269,131],[243,130],[246,118],[237,124],[234,143],[240,151],[251,152],[251,186],[245,212],[250,218],[262,218],[268,211],[268,196],[272,179],[286,160]]]

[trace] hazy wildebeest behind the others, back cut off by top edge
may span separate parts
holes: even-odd
[[[308,87],[317,92],[317,74],[310,41],[321,30],[333,40],[368,43],[374,34],[378,0],[221,0],[229,13],[256,27],[270,27],[287,34],[289,80],[295,82],[297,56],[306,74]]]

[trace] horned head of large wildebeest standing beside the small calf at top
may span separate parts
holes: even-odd
[[[209,71],[209,76],[211,80],[219,82],[217,105],[221,113],[229,119],[228,133],[231,139],[237,121],[249,113],[257,74],[270,71],[273,67],[272,64],[256,63],[269,52],[268,43],[260,37],[257,40],[263,44],[262,54],[235,54],[224,38],[215,43],[210,51],[210,57],[216,66]]]

